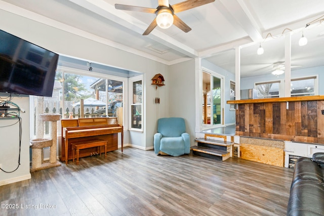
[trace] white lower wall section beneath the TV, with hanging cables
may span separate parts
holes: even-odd
[[[2,98],[7,96],[8,94],[5,93],[0,94]],[[0,170],[0,186],[31,178],[29,171],[29,97],[13,97],[12,102],[26,110],[25,113],[20,113],[22,122],[20,166],[11,173]],[[9,106],[13,107],[12,105]],[[5,171],[13,171],[18,166],[20,132],[19,122],[16,123],[17,121],[18,118],[5,119],[0,117],[0,164]]]

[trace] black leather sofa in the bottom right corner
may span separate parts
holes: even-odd
[[[287,215],[324,215],[324,153],[295,163]]]

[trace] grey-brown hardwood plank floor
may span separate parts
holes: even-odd
[[[0,187],[1,215],[286,215],[293,170],[125,148],[31,175]]]

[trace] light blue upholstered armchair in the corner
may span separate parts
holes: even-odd
[[[190,153],[190,136],[183,118],[159,118],[154,135],[155,154],[179,156]]]

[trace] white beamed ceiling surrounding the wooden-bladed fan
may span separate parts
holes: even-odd
[[[324,15],[322,0],[216,0],[177,14],[192,28],[188,33],[156,27],[147,36],[142,33],[155,14],[116,10],[116,3],[158,6],[157,0],[0,0],[0,8],[85,37],[90,33],[94,40],[168,65],[200,57],[234,73],[234,48],[241,46],[241,77],[266,74],[285,61],[283,35],[289,32],[292,66],[324,65],[324,22],[305,28]],[[299,47],[302,31],[308,44]],[[258,56],[260,42],[264,54]]]

